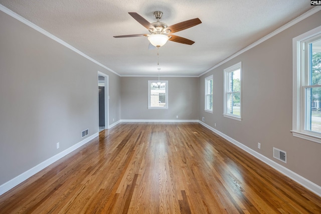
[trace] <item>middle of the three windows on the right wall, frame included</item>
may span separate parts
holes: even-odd
[[[224,117],[241,120],[242,63],[224,69]]]

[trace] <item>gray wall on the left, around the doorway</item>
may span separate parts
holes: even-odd
[[[3,12],[0,29],[1,185],[98,132],[97,71],[120,120],[120,77]]]

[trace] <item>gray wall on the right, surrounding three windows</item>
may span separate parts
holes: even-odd
[[[321,12],[199,78],[199,117],[209,126],[321,185],[321,144],[293,137],[292,38],[320,25]],[[223,70],[242,61],[242,121],[223,117]],[[214,112],[204,111],[204,78],[214,76]],[[214,127],[216,123],[216,127]],[[257,143],[261,143],[261,149]],[[273,146],[287,163],[273,158]]]

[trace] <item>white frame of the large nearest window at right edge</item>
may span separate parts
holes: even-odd
[[[321,133],[305,130],[305,55],[302,44],[313,37],[321,36],[321,26],[308,31],[292,40],[293,54],[293,97],[292,97],[292,134],[305,140],[321,143]],[[304,60],[306,61],[306,59]]]

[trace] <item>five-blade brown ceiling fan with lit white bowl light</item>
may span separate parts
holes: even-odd
[[[163,22],[159,22],[159,20],[163,16],[163,12],[156,11],[154,12],[154,16],[156,18],[156,22],[149,23],[139,14],[131,12],[128,13],[132,18],[134,18],[138,23],[144,26],[150,33],[149,34],[133,34],[133,35],[122,35],[122,36],[114,36],[114,38],[124,38],[124,37],[147,37],[151,45],[159,48],[166,44],[168,40],[182,43],[186,45],[193,45],[195,42],[183,37],[175,36],[172,33],[176,33],[179,31],[183,31],[185,29],[191,28],[193,26],[201,24],[201,20],[199,18],[188,20],[185,22],[181,22],[172,26],[168,26]]]

